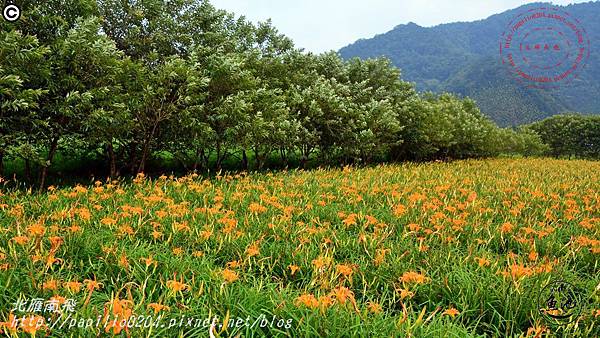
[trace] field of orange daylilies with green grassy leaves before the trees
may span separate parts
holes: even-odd
[[[600,162],[0,188],[8,336],[598,337],[599,263]]]

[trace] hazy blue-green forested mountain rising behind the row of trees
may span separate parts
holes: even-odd
[[[557,88],[528,88],[519,83],[507,71],[509,66],[502,64],[499,51],[509,23],[540,7],[570,14],[579,20],[590,40],[585,68]],[[484,20],[434,27],[411,22],[358,40],[339,53],[345,59],[385,56],[402,70],[405,80],[416,83],[419,91],[469,96],[498,124],[511,126],[563,112],[600,113],[600,53],[596,48],[600,48],[599,1],[568,6],[531,3]]]

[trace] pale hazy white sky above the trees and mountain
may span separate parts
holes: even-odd
[[[589,0],[555,0],[554,4]],[[217,8],[251,21],[273,20],[297,47],[312,52],[338,50],[360,38],[385,33],[399,24],[435,26],[485,19],[535,1],[516,0],[211,0]]]

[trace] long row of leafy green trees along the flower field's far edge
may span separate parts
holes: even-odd
[[[21,5],[0,23],[0,175],[23,161],[42,187],[59,152],[100,157],[114,177],[164,153],[201,171],[557,149],[547,122],[498,128],[472,100],[419,95],[386,59],[305,53],[207,1]],[[593,135],[567,147],[597,156]]]

